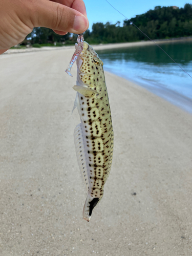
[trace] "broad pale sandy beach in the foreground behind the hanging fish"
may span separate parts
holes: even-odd
[[[192,255],[191,115],[108,72],[112,170],[82,219],[73,52],[0,55],[0,255]]]

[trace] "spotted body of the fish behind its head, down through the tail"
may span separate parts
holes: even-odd
[[[79,91],[78,86],[76,91]],[[81,123],[74,132],[78,165],[88,196],[83,218],[90,220],[92,210],[103,196],[103,188],[110,174],[113,157],[113,127],[105,82],[99,93],[85,97],[77,92],[77,107]]]

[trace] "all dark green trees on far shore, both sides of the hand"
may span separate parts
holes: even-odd
[[[141,31],[151,39],[163,39],[182,36],[192,36],[192,5],[185,4],[184,8],[156,6],[154,10],[149,10],[144,14],[136,15],[131,19]],[[116,42],[131,42],[147,40],[129,20],[124,20],[123,27],[120,22],[116,24],[94,23],[92,31],[88,29],[84,33],[84,40],[89,44],[106,44]],[[40,46],[63,46],[74,45],[77,42],[77,35],[70,33],[58,35],[48,28],[34,28],[26,37],[31,38],[31,44]],[[56,45],[55,45],[56,44]]]

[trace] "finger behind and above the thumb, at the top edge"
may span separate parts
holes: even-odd
[[[75,9],[87,17],[86,6],[82,0],[51,0],[52,2],[66,5],[72,9]]]

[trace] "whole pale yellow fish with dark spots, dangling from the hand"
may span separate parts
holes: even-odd
[[[80,123],[75,127],[74,142],[81,178],[88,193],[82,215],[89,222],[93,208],[103,197],[104,184],[110,174],[114,132],[103,62],[80,35],[75,47],[72,59],[77,62],[77,82],[73,89],[77,94],[73,111],[77,107]],[[67,73],[71,67],[68,66]]]

